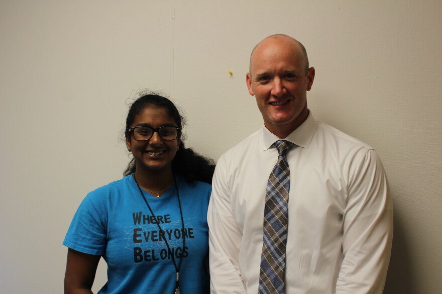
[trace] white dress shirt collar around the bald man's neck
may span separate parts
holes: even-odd
[[[308,110],[307,119],[293,132],[291,132],[286,138],[279,138],[271,133],[263,124],[263,150],[269,149],[273,143],[278,140],[284,139],[294,143],[302,148],[307,148],[313,138],[314,132],[317,128],[317,121],[314,119],[310,110]]]

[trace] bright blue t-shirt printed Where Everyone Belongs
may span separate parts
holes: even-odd
[[[132,176],[88,193],[63,244],[83,253],[102,255],[107,263],[107,283],[98,293],[174,293],[176,270],[171,254],[177,266],[181,259],[181,292],[208,293],[204,261],[208,256],[206,216],[211,186],[198,181],[189,184],[177,176],[159,198],[143,192],[155,217]]]

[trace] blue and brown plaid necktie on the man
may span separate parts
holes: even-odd
[[[282,294],[284,292],[285,244],[287,243],[288,193],[290,191],[290,169],[286,154],[293,143],[279,140],[278,163],[267,182],[264,208],[264,235],[259,273],[260,294]]]

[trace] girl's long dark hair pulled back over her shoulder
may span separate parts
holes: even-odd
[[[185,136],[182,129],[186,123],[186,119],[168,98],[160,96],[154,92],[143,92],[140,98],[135,100],[129,108],[128,117],[126,118],[126,138],[129,138],[130,136],[129,128],[133,124],[135,117],[149,106],[165,109],[180,129],[178,134],[180,137],[180,145],[172,160],[172,172],[184,177],[188,182],[202,181],[211,183],[215,169],[215,162],[212,159],[196,153],[192,148],[185,148]],[[132,158],[126,170],[123,172],[123,175],[127,176],[134,173],[135,168],[135,159]]]

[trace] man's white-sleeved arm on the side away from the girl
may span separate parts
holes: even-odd
[[[390,261],[393,207],[376,151],[356,159],[349,175],[343,216],[344,260],[336,293],[382,293]]]

